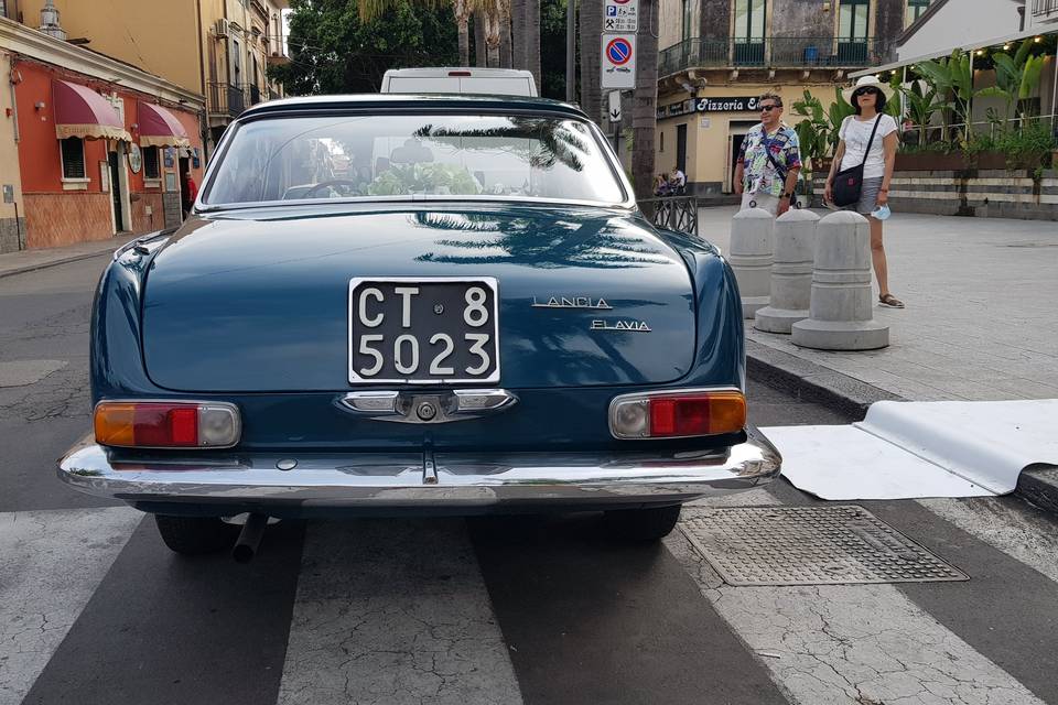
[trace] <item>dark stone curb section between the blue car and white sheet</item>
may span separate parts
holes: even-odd
[[[754,379],[862,421],[876,401],[908,401],[854,377],[746,339],[746,372]]]

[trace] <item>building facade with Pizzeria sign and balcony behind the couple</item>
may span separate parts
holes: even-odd
[[[850,72],[894,57],[928,0],[661,0],[657,161],[695,195],[731,193],[755,98],[782,97],[785,120],[808,90],[823,106]]]

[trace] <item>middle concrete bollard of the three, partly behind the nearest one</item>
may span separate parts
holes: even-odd
[[[753,327],[786,333],[808,318],[812,291],[812,259],[819,216],[811,210],[787,210],[775,221],[775,262],[771,264],[771,301],[757,312]]]

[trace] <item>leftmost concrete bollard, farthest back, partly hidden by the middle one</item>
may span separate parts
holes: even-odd
[[[747,208],[731,221],[731,269],[742,295],[742,316],[753,318],[768,305],[775,217],[764,208]]]

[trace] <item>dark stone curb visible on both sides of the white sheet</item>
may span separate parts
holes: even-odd
[[[796,355],[746,339],[746,372],[755,380],[862,421],[876,401],[910,401]],[[1058,517],[1058,466],[1030,465],[1017,478],[1016,497]]]

